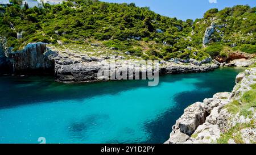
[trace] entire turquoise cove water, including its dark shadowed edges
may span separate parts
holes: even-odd
[[[65,84],[52,77],[0,77],[0,143],[164,143],[193,102],[231,91],[242,69],[147,81]]]

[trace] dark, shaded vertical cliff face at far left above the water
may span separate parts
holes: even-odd
[[[29,43],[20,51],[0,47],[0,68],[14,74],[52,73],[57,53],[48,50],[45,43]],[[2,70],[3,71],[3,70]]]

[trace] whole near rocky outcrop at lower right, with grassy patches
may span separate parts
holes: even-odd
[[[187,107],[166,144],[256,143],[256,67],[238,74],[236,83],[232,93]]]

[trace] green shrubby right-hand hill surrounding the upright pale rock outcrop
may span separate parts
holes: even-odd
[[[203,19],[196,19],[191,34],[192,45],[202,47],[204,32],[207,27],[215,24],[205,51],[212,57],[225,57],[228,52],[256,52],[256,7],[234,6],[223,10],[210,9]]]

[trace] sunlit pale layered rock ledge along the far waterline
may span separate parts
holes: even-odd
[[[122,67],[127,68],[127,60],[123,57],[95,57],[86,54],[77,53],[74,55],[71,52],[60,52],[59,56],[55,57],[55,78],[56,81],[62,82],[84,82],[84,81],[99,81],[97,78],[98,70],[109,65],[110,61],[115,61],[115,71]],[[218,65],[189,60],[187,63],[160,61],[159,74],[175,74],[175,73],[197,73],[207,72],[218,68]],[[139,60],[135,60],[139,64]],[[139,64],[142,68],[146,68],[143,64]],[[136,68],[136,66],[134,66]],[[127,70],[128,72],[128,70]]]

